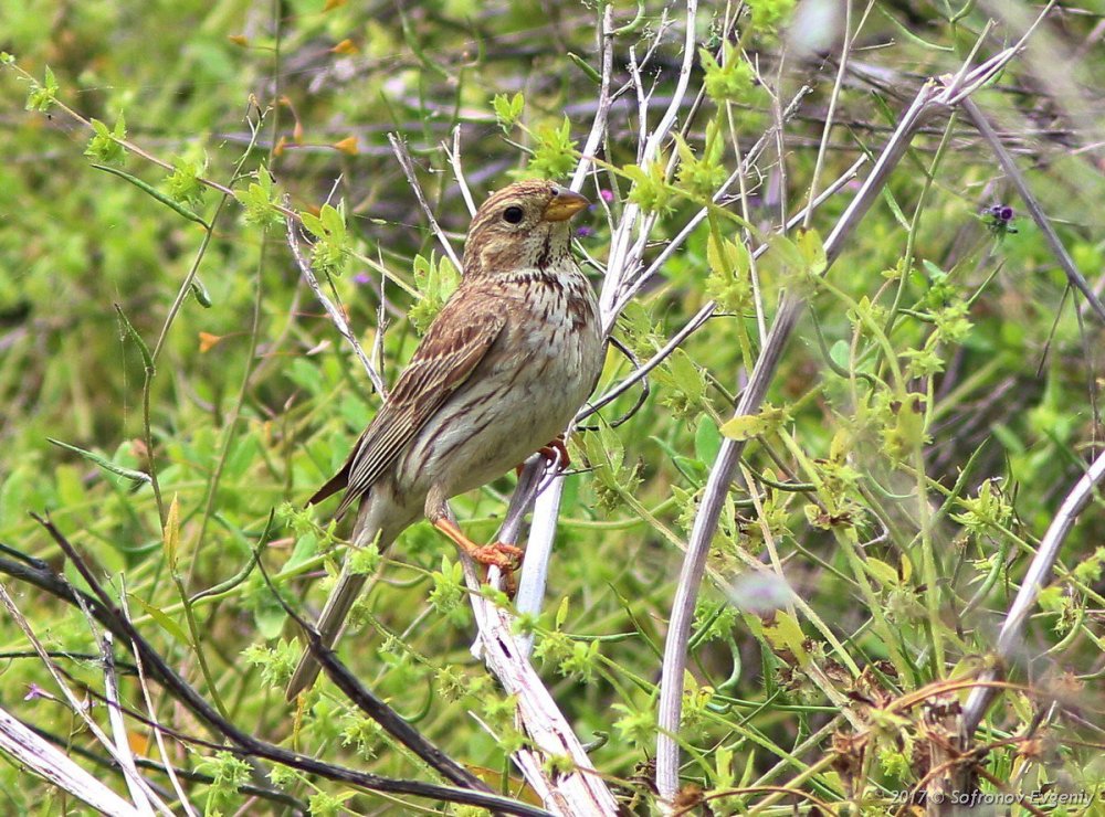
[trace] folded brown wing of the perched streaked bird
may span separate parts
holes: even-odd
[[[372,486],[422,426],[472,374],[503,330],[506,317],[482,297],[451,299],[430,325],[387,402],[354,446],[346,464],[308,500],[343,488],[337,514]]]

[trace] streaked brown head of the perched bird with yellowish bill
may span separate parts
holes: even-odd
[[[464,244],[464,277],[543,269],[570,257],[568,221],[590,202],[550,181],[505,187],[483,203]]]

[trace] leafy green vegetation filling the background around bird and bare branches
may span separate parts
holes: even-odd
[[[988,28],[971,2],[853,4],[838,75],[841,4],[818,0],[704,7],[690,51],[686,9],[651,1],[128,6],[0,10],[0,558],[44,560],[90,591],[31,516],[49,514],[168,666],[239,729],[327,763],[448,783],[334,683],[284,701],[301,640],[274,588],[314,618],[348,522],[302,506],[379,405],[303,280],[286,224],[302,227],[323,293],[390,383],[459,270],[388,135],[459,251],[469,210],[454,132],[476,203],[514,178],[565,180],[609,79],[621,93],[581,188],[596,204],[578,222],[596,287],[627,212],[650,225],[645,266],[682,242],[613,333],[643,362],[717,306],[651,372],[639,411],[627,417],[634,384],[570,437],[578,471],[565,481],[546,605],[515,619],[593,766],[634,813],[661,808],[651,783],[665,636],[729,438],[745,448],[688,639],[682,807],[885,814],[971,768],[985,794],[1101,796],[1099,491],[970,739],[985,749],[949,761],[957,715],[933,709],[954,710],[999,665],[996,636],[1041,539],[1102,454],[1103,316],[1069,288],[961,108],[924,123],[866,217],[839,253],[825,250],[925,79],[998,54],[1040,9],[1000,4],[1018,13]],[[1105,9],[1085,7],[1049,14],[971,98],[1101,295]],[[609,68],[597,41],[612,49]],[[673,98],[674,129],[642,155],[642,131]],[[780,232],[831,185],[804,230]],[[808,308],[766,402],[736,412],[783,293]],[[598,393],[631,373],[611,351]],[[515,481],[452,502],[473,539],[495,535]],[[509,760],[530,745],[517,700],[470,652],[457,558],[427,523],[383,554],[357,553],[379,577],[338,657],[495,792],[539,804]],[[57,677],[110,733],[96,699],[101,628],[3,573]],[[129,799],[8,608],[0,654],[0,709]],[[167,758],[198,813],[478,810],[232,752],[161,685],[140,682],[125,639],[115,654],[123,705],[168,730]],[[135,753],[166,760],[148,723],[125,728]],[[541,764],[554,779],[573,770],[562,755]],[[186,814],[164,771],[139,771]],[[1034,807],[1095,807],[1056,803]],[[4,814],[86,808],[0,751]]]

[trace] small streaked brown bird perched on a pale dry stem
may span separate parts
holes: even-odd
[[[475,214],[463,277],[346,464],[311,502],[345,490],[360,502],[351,544],[383,550],[425,516],[476,561],[514,565],[522,551],[472,542],[451,497],[502,476],[567,427],[598,381],[598,305],[571,256],[569,220],[587,199],[548,181],[494,193]],[[332,646],[366,576],[343,570],[317,628]],[[318,675],[309,652],[292,700]]]

